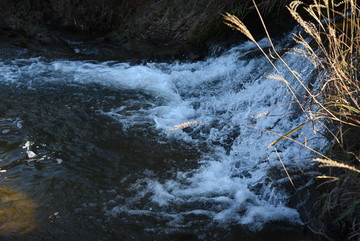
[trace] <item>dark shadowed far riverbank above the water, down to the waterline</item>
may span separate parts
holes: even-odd
[[[270,31],[281,36],[294,22],[283,21],[283,1],[266,5]],[[0,42],[28,54],[71,55],[104,60],[199,60],[245,40],[223,24],[221,14],[244,19],[264,36],[251,1],[2,1]],[[270,13],[270,11],[272,11]],[[288,18],[289,19],[289,18]],[[86,46],[86,47],[84,47]],[[49,51],[48,51],[49,50]]]

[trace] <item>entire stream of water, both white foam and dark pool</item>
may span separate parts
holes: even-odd
[[[311,64],[284,58],[311,86]],[[3,58],[0,237],[304,239],[314,154],[288,140],[267,149],[278,136],[263,129],[284,134],[307,119],[264,74],[275,72],[250,42],[194,63]],[[291,137],[326,143],[312,125]]]

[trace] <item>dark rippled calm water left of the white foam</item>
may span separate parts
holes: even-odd
[[[144,171],[169,178],[198,165],[199,147],[166,140],[150,128],[149,120],[124,130],[99,113],[129,99],[153,97],[97,85],[1,88],[1,185],[13,189],[0,193],[6,200],[0,210],[5,240],[128,237],[132,230],[120,228],[122,222],[114,226],[104,203],[126,197],[129,185]],[[132,109],[146,107],[143,101]]]

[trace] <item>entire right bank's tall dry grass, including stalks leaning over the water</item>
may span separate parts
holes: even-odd
[[[311,91],[275,49],[254,0],[253,4],[275,57],[284,64],[304,88],[308,100],[317,107],[313,108],[316,111],[305,112],[305,108],[296,98],[293,88],[270,60],[271,56],[265,54],[242,21],[234,15],[225,14],[225,23],[245,34],[260,48],[278,72],[278,75],[271,76],[271,78],[286,83],[299,106],[308,114],[309,123],[323,119],[325,127],[333,131],[331,134],[338,146],[333,148],[332,152],[340,150],[340,154],[337,155],[329,153],[332,158],[313,150],[315,154],[322,157],[315,158],[313,161],[318,162],[320,167],[328,168],[318,178],[330,179],[323,183],[328,186],[322,189],[323,197],[318,201],[323,211],[316,215],[319,219],[321,217],[323,219],[317,229],[329,239],[360,240],[360,143],[356,139],[356,135],[355,138],[349,137],[351,133],[360,134],[359,5],[354,0],[313,0],[309,5],[302,1],[293,1],[287,7],[292,17],[303,29],[303,33],[294,35],[294,40],[304,48],[294,50],[311,60],[318,71],[324,75],[320,83],[321,87]],[[312,41],[305,40],[308,36],[312,38]],[[294,130],[296,131],[302,126]],[[283,134],[270,146],[275,145],[281,139],[288,139],[288,134],[294,130]],[[304,144],[300,144],[304,146]],[[291,181],[290,177],[289,179]],[[335,227],[334,233],[328,230],[329,225],[325,225],[325,222],[330,222],[332,228]]]

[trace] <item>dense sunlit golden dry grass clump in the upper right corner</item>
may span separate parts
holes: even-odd
[[[360,127],[360,9],[356,1],[335,5],[333,1],[315,0],[304,7],[313,21],[306,21],[298,13],[301,1],[292,2],[288,9],[315,41],[312,47],[302,35],[296,41],[305,46],[304,54],[326,73],[322,85],[324,113],[335,121]],[[320,50],[321,53],[317,51]],[[323,109],[324,110],[324,109]]]

